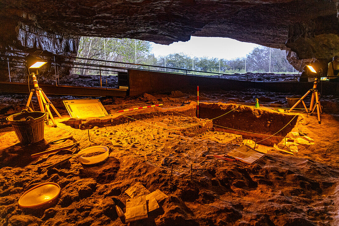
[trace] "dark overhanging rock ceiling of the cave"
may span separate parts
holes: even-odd
[[[0,45],[17,49],[27,47],[23,40],[27,38],[19,33],[28,26],[36,28],[35,35],[60,43],[66,39],[68,44],[61,48],[66,52],[77,43],[69,39],[78,36],[126,37],[160,44],[203,36],[291,49],[300,59],[339,54],[333,0],[0,0],[0,5]],[[54,41],[49,48],[60,43]],[[32,41],[31,45],[37,44]]]

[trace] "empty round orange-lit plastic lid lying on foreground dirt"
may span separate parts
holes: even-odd
[[[49,208],[60,196],[60,186],[53,182],[39,184],[21,195],[19,199],[20,208]]]

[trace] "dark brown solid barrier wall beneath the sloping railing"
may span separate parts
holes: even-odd
[[[313,87],[312,82],[253,82],[218,77],[203,77],[194,75],[180,75],[165,72],[152,72],[140,70],[128,70],[129,95],[139,95],[151,92],[171,92],[175,90],[196,89],[197,86],[204,91],[244,90],[256,88],[272,92],[305,94]],[[339,95],[339,83],[323,82],[322,94]]]

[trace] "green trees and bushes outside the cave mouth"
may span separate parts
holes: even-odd
[[[78,57],[135,63],[135,49],[137,52],[138,64],[165,67],[166,61],[166,67],[181,69],[181,70],[166,69],[166,71],[168,72],[185,73],[185,70],[195,70],[219,73],[219,65],[221,73],[233,74],[245,72],[245,57],[238,57],[230,60],[208,57],[200,58],[194,57],[192,59],[191,56],[188,56],[184,53],[175,53],[169,54],[167,56],[155,57],[154,54],[151,54],[151,44],[149,42],[140,40],[135,41],[134,39],[128,38],[104,39],[99,37],[82,37],[80,39]],[[286,60],[285,51],[260,46],[254,48],[249,54],[247,54],[246,72],[269,72],[270,51],[271,51],[271,72],[274,73],[274,72],[293,71],[292,65],[288,63],[288,61]],[[87,62],[86,60],[78,61],[92,63]],[[118,63],[106,63],[106,65],[126,67],[126,64]],[[138,68],[148,69],[148,66],[138,66]],[[165,69],[157,67],[149,67],[149,69],[165,71]],[[80,71],[80,73],[85,72],[88,73],[88,70]],[[189,71],[187,73],[192,74],[192,72]],[[194,74],[198,73],[194,72]]]

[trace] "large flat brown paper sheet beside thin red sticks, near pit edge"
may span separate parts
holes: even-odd
[[[264,154],[259,153],[245,145],[241,145],[240,147],[228,152],[227,155],[232,156],[235,159],[238,159],[239,161],[250,165],[265,156]]]

